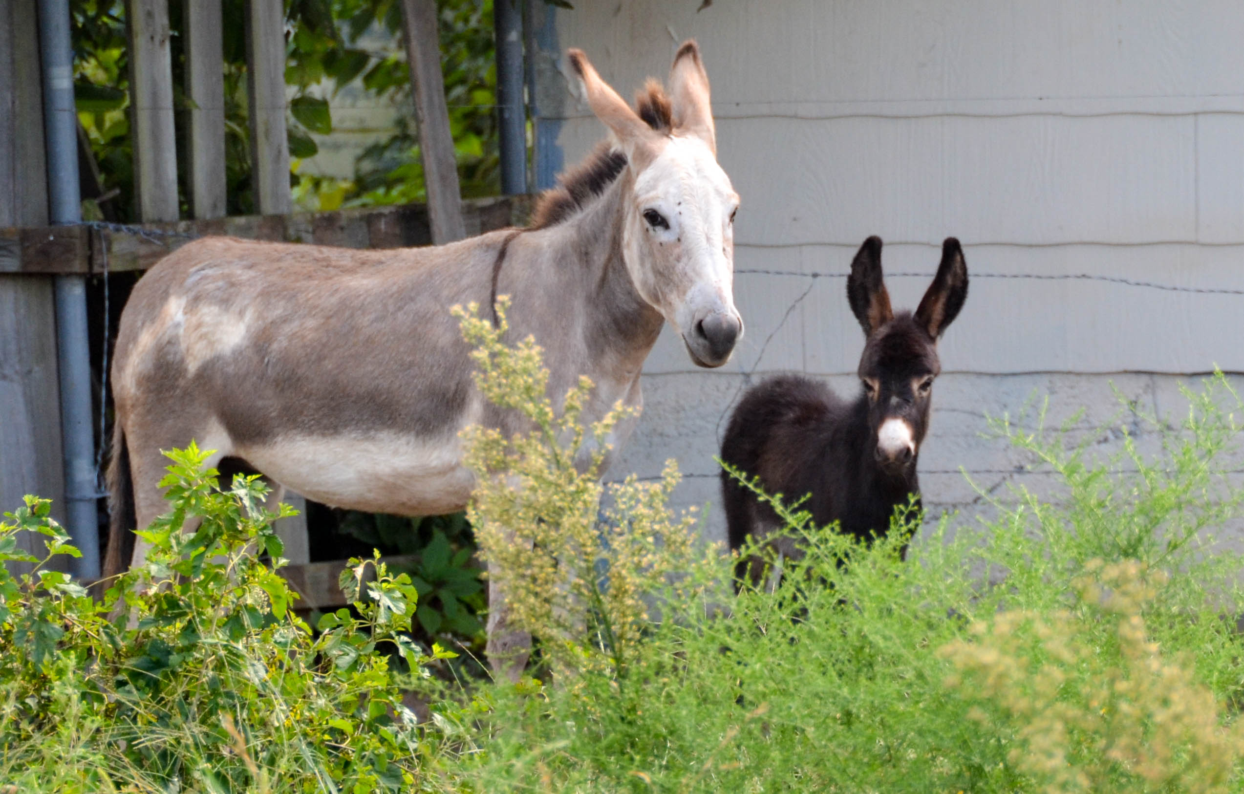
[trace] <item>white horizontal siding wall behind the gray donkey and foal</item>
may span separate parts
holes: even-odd
[[[540,4],[536,4],[540,5]],[[1181,375],[1244,371],[1244,295],[979,274],[1101,274],[1244,290],[1244,6],[1169,0],[697,0],[576,2],[550,50],[583,49],[623,96],[695,37],[719,158],[743,197],[735,266],[845,273],[870,234],[891,271],[965,245],[970,297],[942,343],[947,375],[921,457],[926,502],[1039,485],[979,437],[984,414],[1049,395],[1054,416],[1108,418],[1111,383],[1164,417]],[[561,54],[547,52],[547,58]],[[561,61],[559,61],[561,62]],[[540,114],[575,163],[603,136],[565,72]],[[896,305],[927,281],[893,279]],[[853,388],[862,335],[842,279],[739,275],[746,337],[704,372],[662,339],[648,408],[612,474],[677,455],[687,502],[715,500],[720,417],[746,373],[802,370]],[[794,309],[791,309],[794,306]],[[763,351],[763,355],[761,355]],[[1105,444],[1103,448],[1111,448]],[[710,519],[710,535],[720,518]]]

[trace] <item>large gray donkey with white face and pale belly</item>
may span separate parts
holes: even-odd
[[[432,515],[470,498],[458,432],[520,429],[486,404],[454,304],[513,300],[513,339],[544,346],[560,399],[587,375],[586,422],[639,406],[639,371],[668,321],[692,361],[719,367],[743,335],[734,307],[739,198],[717,163],[699,50],[674,56],[668,93],[632,110],[582,52],[569,58],[611,139],[547,192],[526,229],[435,248],[348,250],[207,238],[138,283],[112,365],[116,429],[106,574],[141,564],[165,507],[160,449],[195,439],[310,499]],[[617,428],[624,443],[633,421]],[[131,551],[132,549],[132,558]],[[521,672],[530,637],[489,586],[488,656]]]

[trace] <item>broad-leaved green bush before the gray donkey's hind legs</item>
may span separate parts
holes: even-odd
[[[353,611],[315,633],[275,572],[265,487],[219,489],[193,446],[170,454],[172,513],[148,561],[97,601],[49,561],[77,550],[46,500],[0,524],[0,785],[22,792],[406,792],[429,745],[402,688],[447,656],[404,633],[414,585],[351,560]],[[282,505],[280,515],[290,510]],[[202,519],[183,534],[185,520]],[[17,535],[46,536],[42,559]],[[260,561],[255,548],[274,560]],[[131,621],[136,627],[127,627]],[[408,670],[409,672],[403,672]]]

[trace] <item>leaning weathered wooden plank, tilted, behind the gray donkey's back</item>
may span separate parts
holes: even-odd
[[[414,116],[419,124],[423,180],[428,188],[432,241],[437,245],[466,236],[462,218],[458,162],[449,133],[445,81],[440,72],[440,37],[435,0],[402,0],[406,15],[406,55],[414,87]]]

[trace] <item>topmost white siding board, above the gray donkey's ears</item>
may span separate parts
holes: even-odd
[[[623,96],[695,37],[714,100],[842,102],[1240,95],[1234,0],[576,4],[559,40]]]

